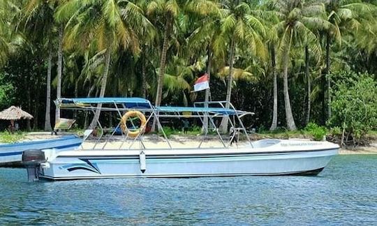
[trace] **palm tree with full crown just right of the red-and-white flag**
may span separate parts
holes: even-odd
[[[266,57],[265,45],[262,41],[262,38],[266,33],[265,27],[257,17],[251,14],[251,6],[245,2],[237,4],[230,3],[230,8],[228,10],[229,13],[223,19],[221,24],[224,36],[228,36],[230,48],[228,58],[229,74],[226,91],[226,108],[229,107],[232,95],[232,73],[236,47],[243,45],[255,54],[259,54],[263,58]],[[228,117],[223,117],[220,130],[221,133],[226,133],[228,131]]]

